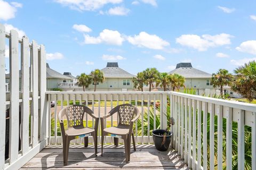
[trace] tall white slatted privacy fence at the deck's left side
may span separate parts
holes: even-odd
[[[6,93],[5,87],[6,41],[9,42],[10,49],[10,56],[6,56],[10,60],[10,93]],[[0,169],[18,169],[47,145],[46,123],[49,122],[46,121],[44,45],[38,46],[34,40],[29,43],[27,37],[19,39],[17,31],[7,33],[4,25],[0,24],[0,80]],[[8,108],[9,156],[5,160],[5,113]]]

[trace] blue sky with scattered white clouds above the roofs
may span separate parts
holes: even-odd
[[[256,60],[256,1],[0,0],[0,23],[44,44],[50,67],[73,75],[107,62],[132,74],[180,62],[213,73]]]

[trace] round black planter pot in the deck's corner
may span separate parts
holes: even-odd
[[[163,129],[153,130],[153,141],[157,150],[166,151],[171,143],[172,133]],[[165,141],[164,136],[165,135]]]

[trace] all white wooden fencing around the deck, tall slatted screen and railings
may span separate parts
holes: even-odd
[[[6,40],[10,42],[10,92],[7,93],[4,81]],[[152,122],[149,121],[149,114],[141,114],[140,116],[142,122],[148,118],[146,132],[144,132],[144,124],[142,124],[141,133],[139,133],[138,121],[135,123],[136,143],[148,144],[153,142],[150,131],[157,128],[157,115],[160,116],[159,122],[162,129],[167,126],[166,117],[169,115],[174,117],[175,125],[171,127],[173,132],[171,146],[193,169],[214,169],[215,161],[218,162],[218,169],[222,169],[223,143],[226,144],[225,165],[227,165],[227,169],[232,169],[232,128],[234,122],[238,123],[238,169],[244,169],[244,128],[250,126],[252,129],[252,169],[256,169],[255,105],[180,92],[46,91],[45,55],[43,45],[38,46],[35,41],[29,43],[27,37],[19,39],[17,31],[14,30],[11,33],[6,33],[4,26],[0,24],[0,79],[2,80],[0,81],[0,169],[18,169],[45,146],[60,144],[62,140],[61,135],[58,135],[58,110],[63,108],[65,103],[68,105],[69,101],[84,103],[98,115],[106,115],[108,109],[123,103],[134,104],[139,107],[141,113],[151,110],[154,115],[153,124],[150,124]],[[21,70],[20,78],[19,70]],[[51,108],[51,101],[55,101],[54,108]],[[159,109],[156,108],[158,102],[160,104]],[[57,103],[60,103],[60,106]],[[169,105],[170,111],[166,112]],[[21,106],[20,115],[19,106]],[[10,108],[10,128],[6,129],[5,112],[8,108]],[[214,130],[215,116],[218,117],[217,131]],[[21,125],[19,125],[19,118]],[[208,123],[206,123],[207,118],[210,118]],[[223,120],[225,119],[227,121],[226,140],[223,139],[222,135]],[[89,125],[90,120],[92,118],[86,115],[86,126]],[[53,123],[51,123],[52,121]],[[112,116],[110,118],[111,126],[117,122],[117,117]],[[93,125],[93,120],[91,123]],[[5,160],[6,130],[10,131],[10,145],[8,148],[9,156]],[[207,134],[207,130],[210,131],[209,134]],[[217,146],[214,143],[214,133],[217,133]],[[19,139],[21,141],[20,149]],[[111,143],[113,139],[106,137],[105,142]],[[205,145],[207,142],[210,143],[209,148]],[[83,139],[76,139],[73,143],[81,144]],[[217,157],[214,146],[218,148]],[[210,163],[210,167],[207,167],[207,163]]]

